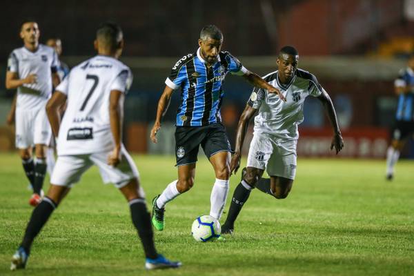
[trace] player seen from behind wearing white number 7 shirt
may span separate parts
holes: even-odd
[[[153,242],[150,214],[146,208],[139,173],[121,143],[124,97],[132,82],[128,66],[118,61],[124,47],[121,28],[104,23],[97,30],[98,55],[83,61],[63,79],[46,106],[57,139],[57,162],[48,195],[34,208],[23,241],[12,257],[11,269],[25,268],[34,238],[52,212],[83,172],[97,165],[104,182],[112,182],[130,205],[146,255],[146,268],[176,268],[157,253]],[[60,106],[68,106],[60,122]]]

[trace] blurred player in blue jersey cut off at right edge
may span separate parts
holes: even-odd
[[[400,158],[400,150],[414,134],[414,54],[408,59],[407,65],[400,70],[398,78],[394,81],[398,106],[391,145],[386,152],[386,179],[388,180],[394,177],[394,167]]]

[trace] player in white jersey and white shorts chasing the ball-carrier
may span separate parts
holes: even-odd
[[[317,97],[328,114],[334,133],[331,150],[335,148],[338,153],[344,147],[331,98],[314,75],[297,68],[298,60],[297,50],[285,46],[277,57],[278,70],[264,77],[269,84],[282,91],[286,101],[255,88],[239,119],[235,153],[230,164],[231,173],[237,172],[240,166],[248,121],[257,115],[247,166],[242,172],[242,181],[233,193],[226,222],[221,227],[223,234],[233,233],[237,215],[253,188],[257,187],[276,199],[288,196],[296,174],[296,144],[299,138],[297,126],[304,120],[302,110],[306,97]],[[265,169],[270,179],[261,179]]]

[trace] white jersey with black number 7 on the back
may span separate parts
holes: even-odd
[[[68,97],[59,129],[57,154],[83,155],[112,150],[110,92],[126,93],[131,83],[130,68],[112,57],[97,55],[72,68],[56,88]]]

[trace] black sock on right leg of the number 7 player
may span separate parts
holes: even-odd
[[[130,210],[132,223],[137,228],[142,247],[147,258],[157,258],[157,250],[154,245],[154,233],[152,233],[152,225],[150,213],[146,208],[144,199],[132,199],[130,202]]]

